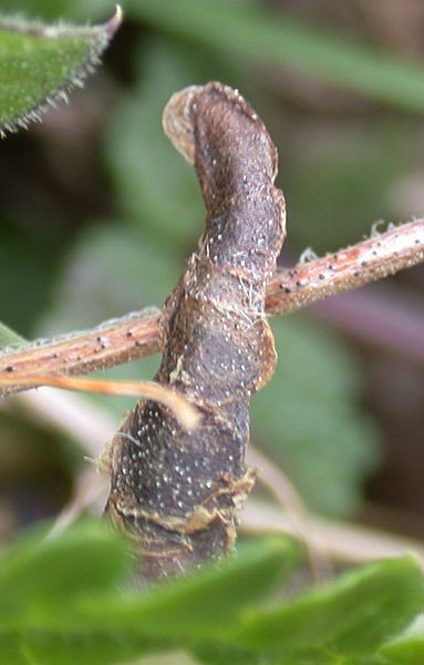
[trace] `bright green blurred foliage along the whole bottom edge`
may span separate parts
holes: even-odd
[[[270,591],[298,561],[287,539],[247,543],[219,566],[139,593],[125,584],[128,554],[127,543],[95,522],[14,543],[1,559],[2,665],[112,665],[173,649],[216,665],[385,665],[401,664],[393,658],[416,643],[415,628],[400,635],[423,606],[412,557],[270,604]]]

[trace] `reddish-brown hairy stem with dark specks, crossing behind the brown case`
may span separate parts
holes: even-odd
[[[424,262],[424,219],[390,228],[323,258],[279,269],[267,286],[266,310],[283,315],[338,293],[359,288]],[[86,374],[159,352],[161,311],[147,310],[106,321],[64,339],[31,342],[0,354],[0,396],[22,390],[21,377]],[[14,377],[11,386],[2,377]]]

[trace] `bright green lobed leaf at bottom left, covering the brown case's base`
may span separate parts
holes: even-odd
[[[1,561],[0,662],[14,665],[10,654],[15,663],[21,654],[22,663],[101,665],[213,640],[298,554],[292,541],[268,539],[219,567],[135,594],[120,590],[128,557],[104,524],[80,524],[52,541],[25,536]]]

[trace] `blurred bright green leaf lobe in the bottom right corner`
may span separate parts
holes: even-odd
[[[312,658],[372,656],[423,607],[423,575],[412,556],[382,561],[350,572],[332,584],[277,610],[251,614],[238,643],[263,653]],[[299,661],[300,662],[300,661]],[[313,659],[310,661],[314,663]]]

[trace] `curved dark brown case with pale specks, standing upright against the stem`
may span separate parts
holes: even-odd
[[[237,92],[189,88],[170,100],[164,125],[195,162],[207,218],[164,309],[156,380],[196,403],[201,422],[186,432],[166,408],[141,402],[112,442],[107,511],[138,541],[145,579],[232,546],[254,483],[245,467],[250,396],[276,362],[265,295],[285,235],[276,149]]]

